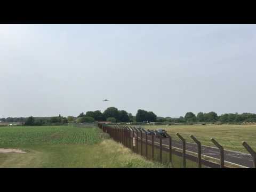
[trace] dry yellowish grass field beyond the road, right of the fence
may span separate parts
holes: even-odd
[[[179,132],[188,142],[194,142],[189,135],[193,134],[202,145],[214,146],[211,138],[216,139],[225,149],[248,153],[242,145],[246,141],[256,150],[256,125],[146,125],[145,129],[165,129],[173,139],[179,140]]]

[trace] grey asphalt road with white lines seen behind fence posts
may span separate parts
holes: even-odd
[[[139,134],[140,136],[140,134]],[[145,134],[143,134],[143,140],[145,140]],[[151,135],[148,137],[148,142],[151,141]],[[154,137],[154,142],[159,143],[159,138]],[[169,147],[169,139],[162,139],[163,147]],[[182,142],[172,140],[172,147],[182,149]],[[195,143],[186,142],[186,151],[197,153],[197,145]],[[209,156],[213,158],[220,158],[220,152],[218,148],[202,146],[202,156]],[[253,167],[253,159],[250,154],[240,153],[237,151],[224,150],[225,162],[241,165],[243,167]]]

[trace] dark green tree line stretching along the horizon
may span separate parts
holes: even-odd
[[[94,121],[118,122],[165,122],[165,123],[195,123],[195,122],[220,122],[220,123],[241,123],[256,122],[256,114],[253,113],[229,113],[218,116],[217,113],[211,111],[209,113],[199,112],[195,115],[187,112],[185,116],[179,118],[158,117],[152,111],[139,109],[137,114],[133,116],[125,110],[118,110],[116,107],[109,107],[103,113],[100,110],[82,112],[77,117],[61,115],[54,117],[7,117],[0,118],[1,122],[20,122],[25,125],[62,125],[67,123],[90,123]]]

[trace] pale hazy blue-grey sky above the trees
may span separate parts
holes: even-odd
[[[255,50],[256,25],[0,25],[0,117],[256,113]]]

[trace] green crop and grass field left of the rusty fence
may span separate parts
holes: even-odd
[[[0,167],[163,167],[133,154],[97,127],[0,127]]]

